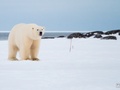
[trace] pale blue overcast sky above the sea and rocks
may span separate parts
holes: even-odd
[[[120,29],[120,0],[0,0],[0,31],[35,23],[46,31]]]

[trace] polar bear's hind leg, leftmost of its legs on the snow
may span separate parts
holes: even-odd
[[[9,60],[18,60],[16,58],[16,54],[17,54],[18,48],[15,46],[9,46],[9,55],[8,55],[8,59]]]

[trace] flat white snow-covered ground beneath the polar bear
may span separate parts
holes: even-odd
[[[118,40],[42,39],[40,61],[9,61],[0,41],[0,90],[119,90]]]

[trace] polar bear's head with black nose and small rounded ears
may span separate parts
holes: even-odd
[[[30,26],[31,26],[30,29],[32,31],[32,33],[31,33],[32,39],[37,40],[44,35],[44,30],[45,30],[44,27],[38,26],[35,24],[32,24]]]

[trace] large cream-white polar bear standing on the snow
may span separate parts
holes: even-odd
[[[8,37],[9,60],[18,60],[17,51],[20,53],[21,60],[39,60],[37,58],[39,45],[44,27],[36,24],[17,24]]]

